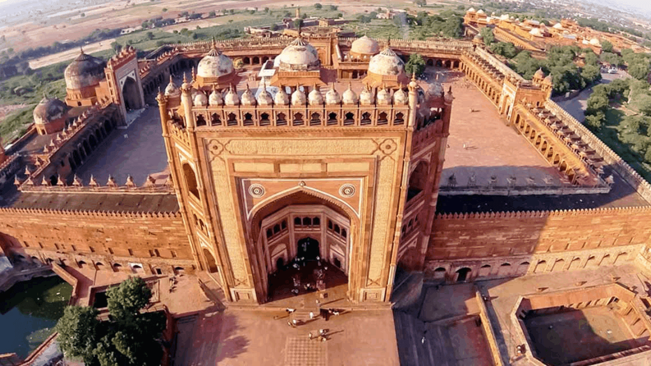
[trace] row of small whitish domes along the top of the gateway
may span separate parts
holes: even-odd
[[[391,92],[386,88],[380,89],[377,95],[374,95],[370,89],[364,87],[364,89],[359,93],[359,96],[357,96],[357,93],[355,93],[350,88],[350,85],[348,85],[348,89],[346,89],[346,91],[341,95],[339,95],[339,92],[337,92],[334,87],[330,87],[326,92],[325,98],[317,88],[312,89],[306,97],[305,92],[301,91],[301,89],[297,89],[292,92],[292,94],[288,95],[284,91],[283,87],[281,87],[273,97],[266,88],[262,88],[256,98],[253,91],[251,91],[247,85],[247,89],[242,93],[241,97],[238,96],[238,92],[234,91],[231,87],[227,92],[225,92],[225,94],[214,89],[209,96],[206,96],[202,91],[197,91],[192,102],[195,106],[238,106],[240,104],[242,106],[271,106],[272,104],[279,106],[288,106],[290,104],[292,106],[304,106],[305,104],[309,104],[310,106],[320,106],[324,103],[334,105],[340,103],[357,104],[358,102],[362,105],[371,105],[374,104],[376,100],[380,105],[389,105],[392,100],[393,104],[407,104],[408,95],[404,90],[398,89],[393,93],[392,98]]]

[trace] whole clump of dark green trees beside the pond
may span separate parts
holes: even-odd
[[[163,348],[165,315],[140,313],[152,296],[140,277],[111,287],[109,320],[100,322],[93,307],[69,306],[55,326],[57,342],[68,358],[81,358],[87,366],[157,366]]]

